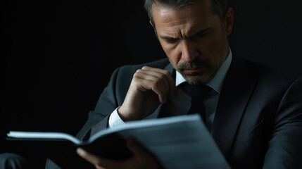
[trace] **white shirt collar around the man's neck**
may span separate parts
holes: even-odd
[[[218,94],[220,94],[223,80],[225,80],[225,75],[227,74],[227,70],[229,70],[229,65],[231,65],[232,62],[232,51],[229,49],[229,55],[227,56],[227,59],[222,63],[219,70],[215,74],[212,80],[210,82],[206,83],[209,87],[214,89]],[[186,82],[184,77],[176,70],[176,77],[175,77],[175,85],[178,86],[182,84],[183,82]]]

